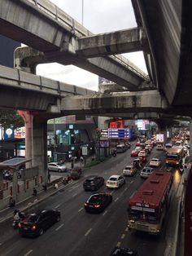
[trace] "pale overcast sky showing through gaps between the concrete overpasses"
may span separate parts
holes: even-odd
[[[94,34],[137,27],[131,0],[51,0]],[[142,51],[124,55],[145,73]],[[98,76],[73,65],[39,64],[37,74],[68,84],[98,90]]]

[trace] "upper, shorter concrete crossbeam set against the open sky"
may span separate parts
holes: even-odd
[[[77,38],[77,54],[84,58],[142,51],[146,36],[142,29],[126,29]]]

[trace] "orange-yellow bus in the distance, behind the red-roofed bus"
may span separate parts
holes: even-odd
[[[168,148],[166,154],[166,164],[168,166],[180,166],[183,157],[185,157],[185,151],[183,147]]]

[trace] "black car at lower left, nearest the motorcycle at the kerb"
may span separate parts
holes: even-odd
[[[59,222],[59,210],[41,210],[35,214],[29,214],[19,224],[21,236],[41,236],[43,232],[54,223]]]

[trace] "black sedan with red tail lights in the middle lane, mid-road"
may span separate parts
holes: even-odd
[[[85,202],[85,210],[88,212],[102,212],[112,201],[111,194],[98,193],[89,197]]]

